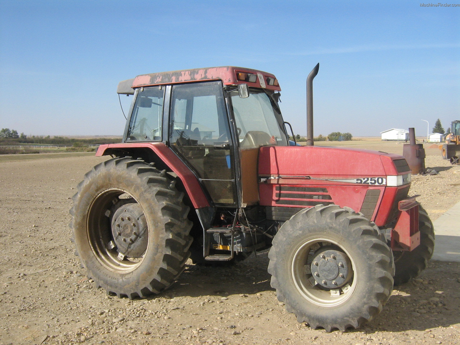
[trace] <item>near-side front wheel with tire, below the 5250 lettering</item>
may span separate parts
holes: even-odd
[[[278,299],[311,328],[357,328],[392,292],[391,249],[374,223],[348,207],[295,214],[276,234],[269,259]]]

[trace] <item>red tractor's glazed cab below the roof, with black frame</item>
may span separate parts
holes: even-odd
[[[249,82],[243,98],[223,79],[135,88],[124,142],[166,143],[215,206],[256,204],[259,147],[288,145],[276,90]]]

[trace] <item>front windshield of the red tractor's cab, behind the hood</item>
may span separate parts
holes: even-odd
[[[240,98],[238,92],[231,95],[241,148],[288,145],[281,113],[264,90],[249,88],[248,98]]]

